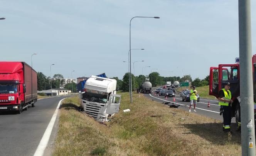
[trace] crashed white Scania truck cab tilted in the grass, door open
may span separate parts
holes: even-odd
[[[116,94],[116,80],[91,76],[86,80],[84,92],[79,92],[80,108],[96,121],[104,122],[108,115],[119,111],[121,95]]]

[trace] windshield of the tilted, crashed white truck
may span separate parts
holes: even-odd
[[[106,104],[108,101],[108,96],[102,95],[102,94],[96,94],[92,92],[85,92],[83,94],[82,99],[90,102],[99,102],[99,103]]]

